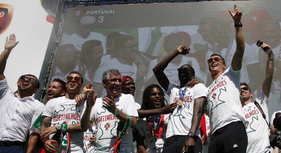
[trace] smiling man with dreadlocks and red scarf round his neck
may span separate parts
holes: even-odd
[[[158,109],[165,106],[164,92],[159,85],[151,84],[143,92],[141,109]],[[169,115],[159,114],[138,119],[136,128],[139,131],[137,139],[138,153],[161,153],[166,138]],[[160,145],[159,145],[160,144]]]

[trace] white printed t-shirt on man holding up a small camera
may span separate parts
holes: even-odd
[[[265,113],[266,121],[268,122],[268,109],[266,98],[263,91],[256,96],[256,102],[262,107]],[[269,144],[269,128],[262,114],[256,107],[254,102],[248,103],[243,107],[244,115],[248,123],[246,124],[248,135],[247,152],[267,153],[270,149]]]

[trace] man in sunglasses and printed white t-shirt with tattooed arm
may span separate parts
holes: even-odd
[[[65,96],[53,98],[46,104],[40,130],[46,152],[55,151],[56,135],[54,133],[66,131],[71,136],[69,152],[83,152],[83,132],[80,128],[80,120],[86,103],[83,101],[77,106],[75,101],[75,96],[79,95],[82,87],[82,76],[79,72],[72,71],[67,76]]]

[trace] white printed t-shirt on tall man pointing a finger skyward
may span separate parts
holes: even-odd
[[[211,133],[235,121],[245,121],[240,102],[240,70],[230,66],[207,88]]]

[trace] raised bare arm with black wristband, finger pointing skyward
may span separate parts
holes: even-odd
[[[242,31],[242,24],[241,24],[241,18],[242,18],[242,12],[236,8],[236,4],[234,5],[234,13],[232,13],[230,10],[228,10],[231,17],[233,18],[235,27],[236,35],[236,51],[233,55],[231,66],[234,71],[240,70],[242,67],[242,60],[245,50],[245,41],[244,41],[244,35]]]

